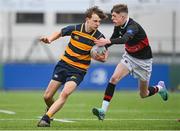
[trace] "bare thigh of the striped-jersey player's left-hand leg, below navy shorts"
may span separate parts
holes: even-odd
[[[61,86],[61,82],[56,81],[56,80],[51,80],[49,82],[49,85],[48,85],[46,91],[45,91],[45,95],[52,97],[56,93],[56,91],[58,90],[58,88],[60,86]]]

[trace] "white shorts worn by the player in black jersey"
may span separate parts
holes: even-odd
[[[127,52],[125,52],[122,56],[121,63],[124,64],[131,75],[134,78],[138,78],[143,81],[149,81],[151,77],[152,71],[152,58],[151,59],[137,59],[130,56]]]

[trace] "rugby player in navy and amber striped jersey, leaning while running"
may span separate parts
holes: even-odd
[[[107,17],[98,7],[89,8],[85,13],[85,23],[67,26],[49,37],[42,37],[41,41],[50,44],[52,41],[70,36],[70,41],[63,56],[57,63],[51,81],[44,93],[44,101],[47,112],[38,122],[38,127],[50,127],[50,119],[62,109],[69,95],[82,82],[87,69],[91,63],[91,49],[95,45],[94,40],[104,38],[98,30],[101,20]],[[105,61],[107,52],[102,56],[96,56],[98,61]],[[94,56],[94,55],[93,55]],[[58,88],[64,84],[58,99],[54,101],[53,96]]]

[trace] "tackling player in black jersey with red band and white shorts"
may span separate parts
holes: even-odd
[[[99,120],[105,118],[116,84],[128,74],[138,78],[141,98],[159,93],[164,101],[168,100],[164,81],[159,81],[155,86],[149,86],[152,71],[152,51],[144,29],[132,18],[129,18],[128,7],[125,4],[114,5],[111,15],[115,24],[111,38],[102,38],[94,42],[99,46],[105,45],[106,47],[113,44],[125,44],[125,53],[106,87],[102,107],[92,109],[93,114]]]

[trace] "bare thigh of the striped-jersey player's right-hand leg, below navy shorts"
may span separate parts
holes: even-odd
[[[75,81],[67,81],[64,85],[64,88],[61,92],[61,94],[64,95],[70,95],[77,87],[77,84]]]

